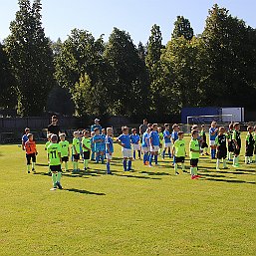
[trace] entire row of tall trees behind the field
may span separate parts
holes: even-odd
[[[177,16],[166,45],[154,24],[147,43],[135,46],[118,28],[108,42],[79,29],[52,42],[42,27],[41,1],[19,0],[19,7],[0,44],[2,110],[160,121],[183,107],[256,109],[256,30],[225,8],[209,10],[200,35]]]

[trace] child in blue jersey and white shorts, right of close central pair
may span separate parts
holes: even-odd
[[[149,167],[152,167],[152,159],[154,157],[155,165],[158,165],[158,150],[160,144],[160,138],[157,131],[157,124],[152,125],[152,131],[149,133],[150,155],[149,155]]]

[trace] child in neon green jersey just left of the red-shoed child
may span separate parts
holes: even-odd
[[[184,132],[183,131],[178,131],[177,132],[178,135],[178,139],[175,140],[174,144],[173,144],[173,155],[175,156],[175,162],[174,162],[174,170],[175,170],[175,174],[178,175],[178,171],[177,171],[177,166],[178,166],[178,162],[181,162],[181,168],[183,172],[185,171],[185,140],[183,138],[184,136]]]

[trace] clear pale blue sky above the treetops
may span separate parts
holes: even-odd
[[[33,1],[33,0],[31,0]],[[105,34],[108,41],[114,27],[126,30],[134,44],[145,44],[153,24],[160,26],[163,44],[170,39],[176,16],[189,19],[195,34],[203,31],[208,10],[217,3],[230,14],[256,28],[256,0],[41,0],[45,34],[56,41],[67,39],[74,28]],[[0,41],[9,34],[18,0],[0,0]]]

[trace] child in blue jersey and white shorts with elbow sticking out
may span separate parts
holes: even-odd
[[[123,165],[124,170],[129,171],[131,170],[131,160],[132,160],[132,152],[131,152],[131,144],[130,138],[128,134],[128,127],[122,128],[123,134],[121,134],[117,141],[122,146],[122,153],[123,153]]]

